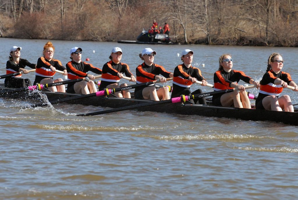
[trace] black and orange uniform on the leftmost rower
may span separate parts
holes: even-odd
[[[25,68],[28,66],[32,69],[35,69],[35,64],[30,63],[29,61],[20,58],[19,63],[16,64],[13,60],[9,60],[6,62],[6,74],[12,74],[15,72],[19,72],[20,68]],[[22,75],[17,75],[13,77],[7,77],[4,80],[5,87],[12,87],[12,88],[25,88],[31,86],[31,81],[29,78],[22,78]]]

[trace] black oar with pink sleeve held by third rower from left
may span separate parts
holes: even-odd
[[[86,78],[79,78],[79,79],[74,79],[74,80],[65,80],[65,81],[61,81],[61,82],[57,82],[57,83],[47,83],[47,84],[36,84],[35,86],[29,86],[26,88],[19,88],[19,89],[12,89],[12,90],[7,90],[7,91],[2,91],[0,92],[1,94],[8,94],[8,93],[13,93],[13,92],[21,92],[21,91],[28,91],[28,90],[41,90],[43,88],[49,88],[52,86],[59,86],[59,85],[65,85],[65,84],[69,84],[69,83],[76,83],[82,80],[89,80],[88,77]]]

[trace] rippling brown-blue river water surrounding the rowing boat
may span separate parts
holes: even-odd
[[[119,46],[133,73],[145,47],[157,51],[155,63],[168,71],[181,63],[178,53],[191,49],[209,83],[223,53],[232,54],[233,69],[261,80],[268,56],[279,52],[283,71],[298,82],[298,51],[291,47],[52,42],[64,65],[78,46],[83,60],[100,68]],[[0,74],[11,46],[36,63],[45,43],[0,38]],[[23,76],[33,83],[33,73]],[[297,93],[283,94],[298,102]],[[21,109],[29,104],[0,99],[0,199],[298,199],[296,126],[134,110],[78,117],[103,108],[66,103]]]

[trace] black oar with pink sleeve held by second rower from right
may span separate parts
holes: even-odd
[[[245,89],[253,88],[255,87],[254,85],[252,86],[246,86]],[[100,115],[100,114],[107,114],[107,113],[113,113],[113,112],[118,112],[118,111],[124,111],[124,110],[129,110],[129,109],[135,109],[135,108],[141,108],[141,107],[148,107],[148,106],[156,106],[156,105],[161,105],[165,103],[179,103],[179,102],[186,102],[190,99],[197,99],[197,98],[202,98],[202,97],[209,97],[215,94],[224,94],[228,92],[233,92],[234,90],[238,90],[236,88],[234,89],[227,89],[227,90],[219,90],[219,91],[214,91],[214,92],[206,92],[202,94],[195,94],[192,96],[184,96],[182,97],[175,97],[172,99],[168,100],[162,100],[162,101],[153,101],[149,103],[142,103],[138,105],[133,105],[133,106],[126,106],[122,108],[115,108],[115,109],[109,109],[109,110],[103,110],[103,111],[97,111],[97,112],[91,112],[91,113],[85,113],[85,114],[78,114],[77,116],[93,116],[93,115]]]

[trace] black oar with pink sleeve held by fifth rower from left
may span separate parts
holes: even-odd
[[[173,78],[167,78],[167,81],[172,80],[172,79]],[[101,91],[94,92],[94,93],[91,93],[91,94],[83,94],[83,95],[80,95],[80,96],[75,96],[75,97],[69,97],[69,98],[65,98],[65,99],[58,99],[58,100],[55,100],[55,101],[50,101],[50,103],[53,105],[53,104],[56,104],[56,103],[63,103],[63,102],[77,100],[77,99],[86,98],[86,97],[110,95],[110,94],[113,94],[115,92],[120,92],[120,91],[123,91],[123,90],[130,90],[130,89],[134,89],[134,88],[140,87],[140,86],[149,86],[151,84],[159,83],[159,82],[160,82],[160,80],[155,80],[155,81],[150,81],[150,82],[146,82],[146,83],[139,83],[139,84],[135,84],[135,85],[125,86],[125,87],[121,87],[121,88],[105,89],[105,90],[101,90]],[[47,106],[47,105],[48,105],[47,103],[39,103],[39,104],[31,105],[31,106],[25,106],[23,108],[29,108],[29,107],[35,108],[35,107]]]

